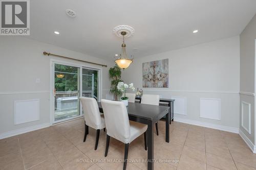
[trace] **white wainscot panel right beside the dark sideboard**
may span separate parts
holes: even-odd
[[[175,100],[174,102],[174,114],[187,114],[187,104],[185,97],[176,97],[173,96],[172,99]]]

